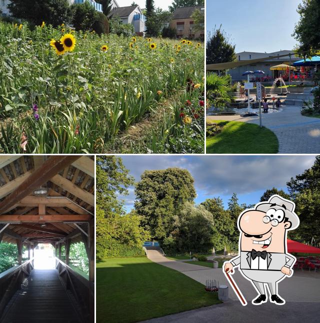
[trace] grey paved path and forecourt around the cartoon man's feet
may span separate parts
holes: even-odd
[[[148,252],[148,258],[158,264],[180,271],[203,285],[205,285],[207,279],[215,279],[220,285],[226,284],[230,286],[221,268],[213,269],[187,262],[169,260],[157,251]],[[246,298],[247,306],[240,304],[233,289],[229,287],[229,300],[221,305],[159,317],[148,322],[211,322],[214,320],[215,322],[236,321],[249,323],[256,322],[259,315],[264,316],[264,323],[276,320],[314,322],[314,317],[320,315],[320,272],[298,270],[294,272],[292,277],[281,281],[278,293],[286,300],[286,303],[282,306],[269,302],[260,306],[252,305],[251,300],[256,297],[256,291],[251,282],[246,280],[237,269],[235,269],[233,279],[237,282],[243,296]],[[268,317],[265,319],[266,312]]]

